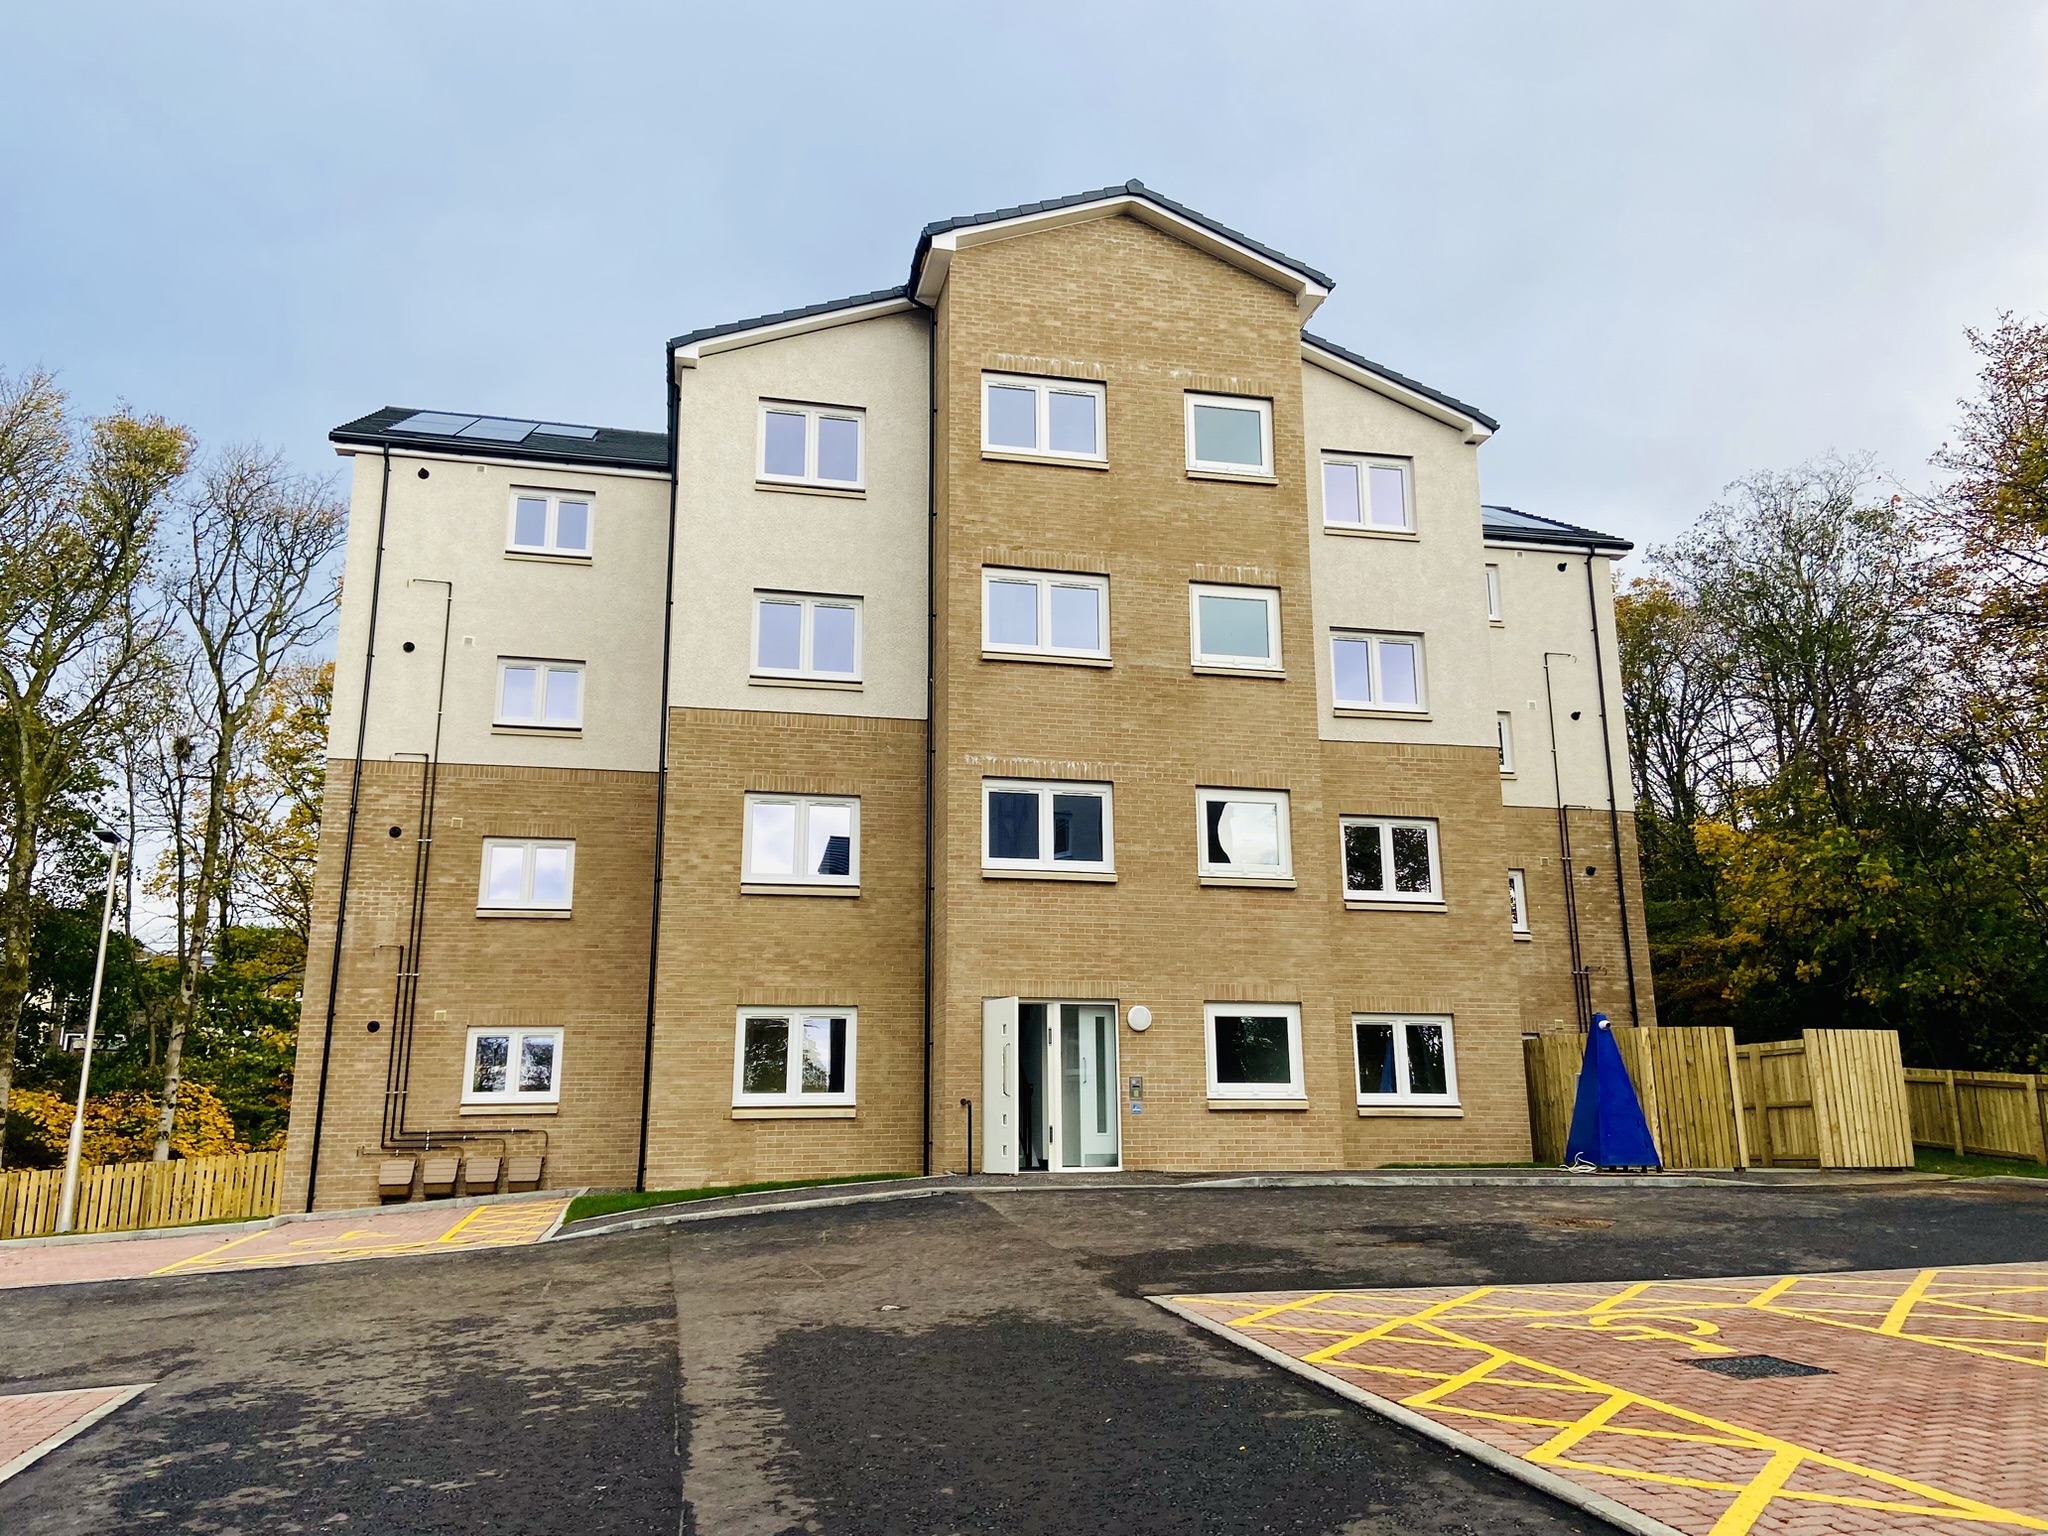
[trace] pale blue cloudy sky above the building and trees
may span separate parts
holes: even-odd
[[[1501,418],[1489,500],[1669,537],[1907,483],[2048,311],[2048,4],[8,4],[0,369],[332,473],[383,403],[659,426],[674,332],[1130,176]]]

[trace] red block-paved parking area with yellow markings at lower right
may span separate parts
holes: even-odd
[[[2048,1532],[2048,1266],[1155,1300],[1686,1536]]]

